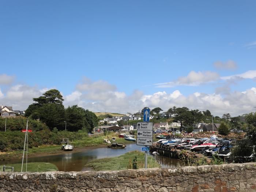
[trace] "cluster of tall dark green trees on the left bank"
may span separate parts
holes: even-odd
[[[98,126],[97,116],[78,105],[64,108],[63,96],[60,91],[52,89],[46,91],[42,96],[33,98],[34,103],[29,105],[25,116],[34,120],[40,120],[45,123],[51,130],[68,131],[92,131]]]

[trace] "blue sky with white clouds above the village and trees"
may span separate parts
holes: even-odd
[[[0,0],[0,104],[256,110],[254,0]]]

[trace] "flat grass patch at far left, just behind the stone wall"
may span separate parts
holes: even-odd
[[[5,165],[8,167],[14,167],[14,172],[21,171],[21,163],[17,164],[8,164]],[[0,165],[0,170],[3,170],[3,165]],[[11,169],[6,169],[6,172],[11,172]],[[26,171],[26,163],[23,163],[22,171]],[[58,168],[52,163],[45,162],[35,162],[35,163],[27,163],[27,172],[50,172],[50,171],[58,171]]]

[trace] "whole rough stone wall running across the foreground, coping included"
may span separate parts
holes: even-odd
[[[256,191],[256,163],[106,172],[0,172],[3,191]]]

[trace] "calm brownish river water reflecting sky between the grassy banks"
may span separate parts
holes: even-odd
[[[128,144],[125,148],[114,149],[109,147],[96,148],[76,153],[65,153],[59,155],[47,155],[42,157],[29,157],[28,162],[48,162],[53,163],[58,167],[60,171],[81,171],[90,170],[90,168],[84,167],[84,165],[93,160],[108,157],[116,157],[133,150],[140,150],[140,146],[136,144]],[[155,158],[162,167],[177,167],[182,165],[182,161],[177,159],[170,159],[168,157],[148,155],[148,158]],[[6,163],[21,163],[20,159],[13,159]]]

